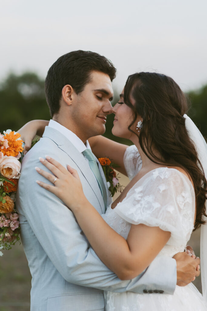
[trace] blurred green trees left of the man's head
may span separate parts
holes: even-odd
[[[0,132],[11,128],[17,131],[33,119],[50,118],[44,94],[44,81],[33,72],[20,76],[13,73],[0,85]]]

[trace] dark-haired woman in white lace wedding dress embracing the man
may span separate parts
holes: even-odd
[[[70,207],[98,257],[122,280],[139,275],[160,254],[182,252],[192,230],[205,227],[207,149],[186,111],[185,95],[172,78],[149,72],[128,77],[112,110],[112,133],[134,144],[124,153],[131,181],[102,217],[86,199],[76,170],[49,156],[40,161],[52,174],[36,168],[51,182],[37,183]],[[107,138],[93,137],[90,145],[96,156],[119,162],[121,149]],[[105,298],[107,311],[207,308],[192,283],[176,286],[174,295],[105,292]]]

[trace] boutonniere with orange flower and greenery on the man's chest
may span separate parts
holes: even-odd
[[[123,186],[120,185],[118,174],[116,174],[114,170],[114,167],[119,167],[119,165],[112,163],[111,160],[107,157],[99,158],[98,160],[104,171],[111,197],[113,197],[117,191],[122,192]]]

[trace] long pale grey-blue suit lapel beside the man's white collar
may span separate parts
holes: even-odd
[[[81,173],[83,174],[83,176],[85,177],[85,179],[89,183],[92,191],[95,193],[95,195],[99,201],[101,211],[104,214],[105,213],[105,206],[104,206],[103,197],[101,195],[101,190],[100,190],[100,188],[97,184],[97,181],[96,181],[96,179],[92,173],[92,170],[90,169],[89,165],[86,165],[85,159],[83,158],[82,154],[80,154],[80,152],[75,148],[75,146],[64,135],[62,135],[59,131],[57,131],[54,128],[46,127],[45,131],[43,133],[43,137],[48,137],[48,138],[52,139],[58,145],[58,147],[62,151],[64,151],[73,160],[73,162],[78,166]],[[101,170],[102,170],[102,168],[101,168]],[[101,176],[103,177],[102,174],[104,174],[103,170],[101,172]],[[105,177],[103,179],[104,179],[104,183],[106,184]],[[108,197],[107,197],[107,199],[108,199]]]

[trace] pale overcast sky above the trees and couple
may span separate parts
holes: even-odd
[[[56,59],[91,50],[129,74],[157,71],[184,91],[207,84],[206,0],[0,0],[1,70],[45,78]]]

